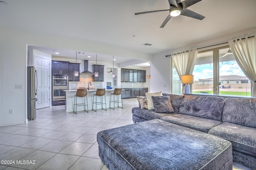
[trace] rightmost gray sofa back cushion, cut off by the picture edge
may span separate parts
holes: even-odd
[[[256,128],[256,98],[226,98],[222,121]]]

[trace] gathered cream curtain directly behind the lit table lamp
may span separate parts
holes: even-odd
[[[172,55],[172,60],[180,79],[181,75],[188,75],[193,73],[197,53],[198,50],[195,48],[189,50],[188,52],[181,52],[179,54]],[[185,89],[182,88],[181,94],[183,94],[184,91]]]

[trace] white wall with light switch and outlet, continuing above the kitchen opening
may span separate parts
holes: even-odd
[[[26,122],[27,45],[88,51],[126,58],[152,59],[152,55],[58,35],[0,28],[0,126]],[[15,89],[15,84],[23,89]],[[14,114],[9,114],[14,109]]]

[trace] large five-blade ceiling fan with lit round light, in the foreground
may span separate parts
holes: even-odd
[[[197,14],[196,12],[193,12],[193,11],[190,11],[190,10],[186,9],[189,6],[192,6],[192,5],[196,4],[199,1],[201,1],[201,0],[185,0],[185,1],[177,3],[176,0],[168,0],[168,2],[170,4],[170,9],[168,9],[168,10],[156,10],[156,11],[138,12],[138,13],[135,13],[135,15],[147,14],[147,13],[152,13],[152,12],[169,11],[170,14],[164,20],[164,22],[162,23],[160,28],[164,27],[164,25],[166,25],[166,23],[172,17],[176,17],[176,16],[179,16],[179,15],[187,16],[187,17],[190,17],[190,18],[195,18],[195,19],[198,19],[198,20],[202,20],[202,19],[205,18],[204,16],[202,16],[200,14]]]

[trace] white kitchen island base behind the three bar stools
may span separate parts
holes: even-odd
[[[88,100],[88,109],[92,110],[92,102],[93,102],[93,96],[96,94],[97,89],[92,89],[92,90],[87,90],[87,100]],[[76,95],[77,90],[64,90],[66,92],[66,112],[72,112],[74,111],[74,96]],[[109,101],[110,101],[110,94],[113,93],[114,89],[106,89],[106,107],[109,108]],[[116,96],[115,96],[116,97]],[[112,96],[113,99],[113,96]],[[119,100],[121,97],[119,97]],[[101,100],[101,97],[97,97],[97,102]],[[105,99],[103,96],[103,103]],[[77,98],[77,103],[83,103],[84,98]],[[85,101],[86,102],[86,101]],[[94,97],[94,102],[95,102],[95,97]],[[95,104],[94,104],[94,109],[95,109]],[[117,104],[116,104],[117,106]],[[113,107],[113,103],[111,104],[111,107]],[[105,104],[103,104],[103,108],[105,108]],[[87,108],[86,108],[87,109]],[[97,109],[101,109],[101,105],[97,105]],[[77,111],[83,111],[84,106],[78,106]]]

